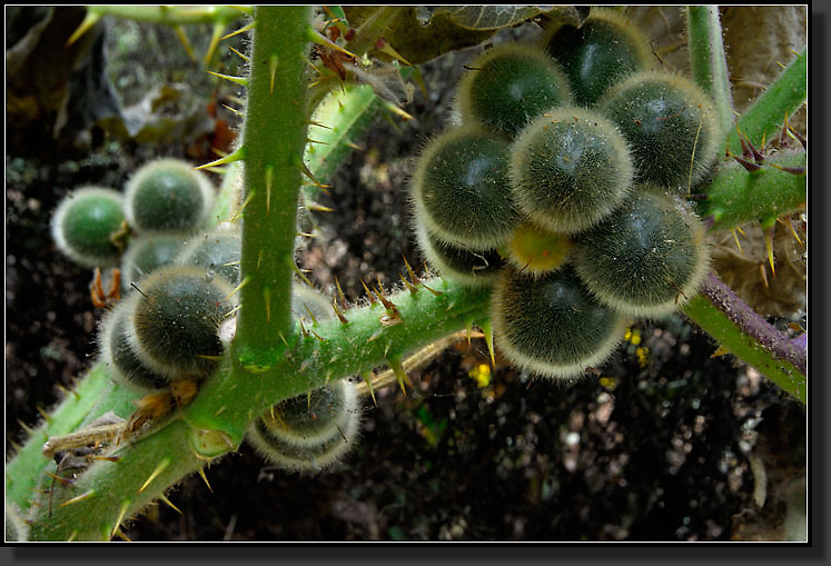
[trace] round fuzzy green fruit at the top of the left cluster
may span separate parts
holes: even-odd
[[[158,159],[130,178],[125,211],[138,231],[192,230],[206,222],[214,197],[214,187],[201,171],[178,159]]]

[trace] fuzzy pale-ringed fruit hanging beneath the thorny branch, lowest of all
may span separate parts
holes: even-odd
[[[251,423],[246,438],[275,466],[315,473],[350,450],[359,428],[355,386],[342,379],[277,404]]]

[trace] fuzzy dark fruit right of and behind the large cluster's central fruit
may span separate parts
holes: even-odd
[[[639,72],[597,106],[629,141],[640,182],[687,192],[709,171],[718,151],[715,110],[689,79]]]

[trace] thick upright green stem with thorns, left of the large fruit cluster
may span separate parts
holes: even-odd
[[[255,363],[291,328],[291,277],[306,146],[308,7],[257,8],[244,132],[244,286],[235,358]],[[240,375],[245,378],[245,374]]]

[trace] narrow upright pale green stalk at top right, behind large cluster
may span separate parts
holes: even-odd
[[[690,37],[690,63],[695,82],[708,92],[714,103],[722,127],[721,142],[733,128],[733,95],[728,78],[718,6],[691,6],[686,11]]]

